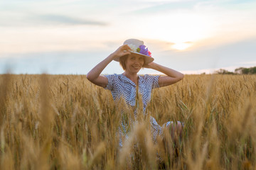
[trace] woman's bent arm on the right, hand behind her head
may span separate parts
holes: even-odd
[[[160,64],[156,64],[155,62],[151,62],[146,65],[146,68],[155,69],[161,73],[166,74],[165,77],[159,77],[159,86],[169,86],[171,84],[175,84],[176,82],[183,79],[184,75],[181,72],[177,72],[174,69],[170,69],[168,67],[164,67]]]

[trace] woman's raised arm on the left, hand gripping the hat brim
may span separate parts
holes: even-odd
[[[122,57],[124,55],[131,54],[129,52],[131,50],[128,45],[122,45],[117,50],[115,50],[111,55],[109,55],[105,60],[97,64],[93,69],[91,69],[90,72],[87,74],[87,79],[91,81],[93,84],[96,84],[97,86],[106,87],[107,86],[107,78],[100,76],[103,69],[107,67],[107,64],[110,64],[114,58]]]

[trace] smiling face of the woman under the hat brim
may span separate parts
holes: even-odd
[[[130,73],[137,73],[139,72],[140,69],[142,69],[143,64],[144,64],[143,56],[129,55],[125,62],[125,66],[126,66],[125,71]]]

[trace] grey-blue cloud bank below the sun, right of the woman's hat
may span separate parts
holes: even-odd
[[[157,63],[188,73],[193,70],[206,72],[207,70],[202,70],[209,68],[234,70],[238,67],[252,67],[255,65],[255,47],[256,37],[226,45],[211,47],[206,45],[185,51],[153,49],[151,52]]]

